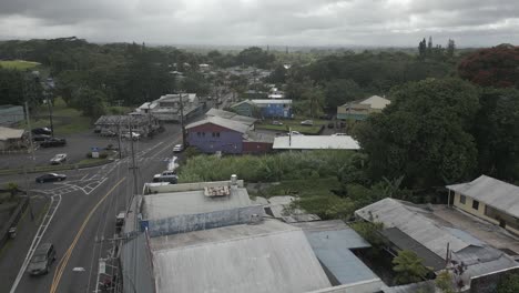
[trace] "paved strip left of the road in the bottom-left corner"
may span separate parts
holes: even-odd
[[[50,198],[31,196],[34,220],[31,219],[31,208],[28,206],[20,222],[18,222],[16,239],[10,240],[0,249],[0,280],[2,280],[0,282],[0,292],[9,292],[11,289],[49,203]]]

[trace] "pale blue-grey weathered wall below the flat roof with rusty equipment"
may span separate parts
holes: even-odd
[[[147,228],[150,236],[172,235],[191,231],[251,223],[253,215],[263,216],[263,205],[237,208],[200,214],[183,214],[161,220],[141,221],[141,230]]]

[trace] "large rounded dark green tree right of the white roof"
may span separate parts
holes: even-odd
[[[457,79],[409,82],[393,103],[358,125],[373,180],[404,175],[404,185],[434,186],[471,179],[477,149],[471,134],[478,91]]]

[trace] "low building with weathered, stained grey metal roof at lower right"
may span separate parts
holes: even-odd
[[[387,198],[355,211],[355,215],[364,221],[383,223],[380,234],[389,242],[387,250],[394,254],[413,251],[435,273],[461,265],[462,274],[455,281],[464,285],[462,292],[475,279],[519,267],[506,252],[458,229],[456,223],[436,216],[434,211],[434,206]]]

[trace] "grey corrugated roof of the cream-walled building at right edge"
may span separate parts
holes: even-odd
[[[468,183],[447,185],[447,189],[519,218],[519,186],[480,175]]]

